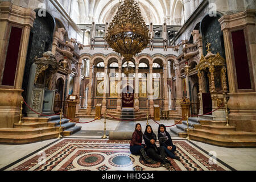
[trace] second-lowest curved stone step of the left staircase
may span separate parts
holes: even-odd
[[[51,133],[57,131],[56,127],[40,127],[35,129],[23,128],[1,128],[0,135],[35,135],[40,133]]]

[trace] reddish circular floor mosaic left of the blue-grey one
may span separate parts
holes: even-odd
[[[96,166],[104,161],[104,156],[101,154],[88,154],[84,155],[77,160],[80,166],[90,167]]]

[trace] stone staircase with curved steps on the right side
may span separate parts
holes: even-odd
[[[234,126],[225,126],[226,121],[204,118],[188,118],[189,138],[222,147],[256,147],[256,133],[236,131]],[[187,121],[171,127],[171,133],[187,137]]]

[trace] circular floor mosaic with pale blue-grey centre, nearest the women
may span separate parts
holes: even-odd
[[[133,164],[135,159],[127,154],[117,154],[109,158],[109,164],[114,167],[127,167]]]

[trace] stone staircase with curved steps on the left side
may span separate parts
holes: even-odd
[[[48,118],[24,117],[23,123],[14,123],[13,128],[0,129],[0,143],[25,144],[57,138],[59,137],[59,122],[59,115]],[[61,119],[61,127],[63,136],[81,130],[81,126],[75,126],[75,123],[64,118]]]

